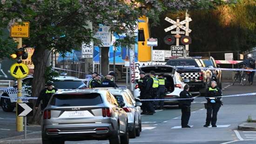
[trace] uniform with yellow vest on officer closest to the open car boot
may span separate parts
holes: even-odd
[[[165,96],[165,81],[166,79],[165,78],[158,78],[158,81],[159,81],[159,86],[158,86],[158,90],[157,90],[157,96],[160,98],[160,99],[163,99],[164,96]],[[159,106],[161,109],[163,108],[163,105],[164,105],[164,101],[159,101],[157,103],[157,106]]]

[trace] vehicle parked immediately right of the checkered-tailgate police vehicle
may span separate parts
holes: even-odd
[[[220,68],[220,65],[218,65],[213,57],[201,57],[203,63],[206,67],[209,68]],[[212,80],[215,80],[217,82],[217,85],[222,88],[222,70],[216,69],[211,70],[213,73]]]

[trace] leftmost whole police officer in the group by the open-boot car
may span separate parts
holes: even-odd
[[[139,86],[139,89],[140,89],[140,98],[141,99],[145,99],[145,89],[146,89],[146,85],[147,85],[147,80],[148,78],[146,77],[146,73],[145,72],[140,72],[140,79],[137,81],[137,84]],[[147,111],[147,108],[145,106],[145,102],[142,101],[142,105],[141,105],[141,109],[142,109],[142,112],[141,114],[148,114],[148,111]]]

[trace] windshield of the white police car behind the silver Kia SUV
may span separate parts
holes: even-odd
[[[56,89],[77,89],[85,86],[86,85],[82,81],[74,81],[74,80],[54,81],[54,87]]]

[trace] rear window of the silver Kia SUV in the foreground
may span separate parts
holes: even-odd
[[[102,104],[101,95],[99,93],[89,94],[59,94],[54,95],[50,105],[54,106],[91,106]]]

